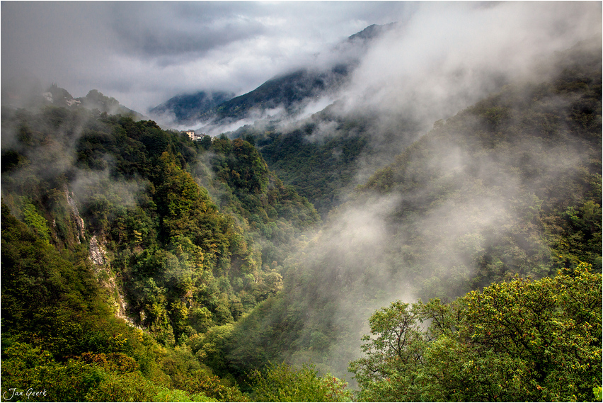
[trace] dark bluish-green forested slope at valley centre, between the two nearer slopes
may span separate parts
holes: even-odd
[[[278,120],[244,125],[229,137],[255,144],[270,169],[308,198],[324,218],[418,137],[410,118],[393,123],[374,111],[341,113],[335,102],[291,125]]]

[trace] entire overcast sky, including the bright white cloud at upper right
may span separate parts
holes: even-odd
[[[2,1],[2,82],[26,72],[147,113],[179,93],[246,93],[368,25],[396,21],[403,36],[382,42],[356,74],[364,93],[418,82],[409,71],[444,62],[445,77],[468,62],[515,69],[534,51],[600,34],[601,13],[600,1]]]

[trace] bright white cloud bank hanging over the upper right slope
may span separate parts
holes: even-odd
[[[343,113],[404,115],[428,130],[511,79],[536,78],[553,52],[601,29],[601,5],[592,2],[427,2],[371,47]]]

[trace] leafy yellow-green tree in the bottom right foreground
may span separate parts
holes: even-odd
[[[590,401],[602,382],[602,276],[493,283],[452,304],[394,302],[350,363],[360,400]],[[421,324],[429,323],[421,329]]]

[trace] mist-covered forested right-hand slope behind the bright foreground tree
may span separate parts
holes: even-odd
[[[364,320],[392,300],[449,301],[580,261],[600,273],[601,50],[559,56],[550,80],[437,122],[332,211],[282,292],[226,338],[231,370],[312,359],[343,374]]]

